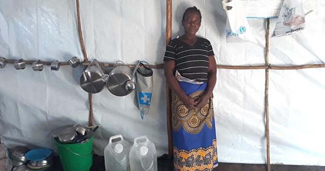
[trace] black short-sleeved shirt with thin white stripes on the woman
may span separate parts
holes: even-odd
[[[207,82],[211,55],[214,55],[214,52],[207,39],[198,37],[193,46],[173,39],[166,47],[164,61],[175,61],[175,70],[183,77]]]

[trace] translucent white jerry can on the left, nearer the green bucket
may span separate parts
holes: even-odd
[[[104,150],[106,171],[129,171],[130,148],[131,144],[122,135],[111,136]]]

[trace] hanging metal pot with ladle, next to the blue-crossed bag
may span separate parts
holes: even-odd
[[[118,65],[119,62],[122,65]],[[135,89],[133,78],[138,66],[139,61],[137,61],[134,71],[132,71],[122,61],[115,62],[113,69],[109,73],[110,79],[106,83],[108,90],[115,96],[126,96],[130,94]]]

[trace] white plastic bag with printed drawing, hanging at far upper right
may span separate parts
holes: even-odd
[[[291,35],[305,29],[305,13],[300,0],[284,0],[272,37]]]

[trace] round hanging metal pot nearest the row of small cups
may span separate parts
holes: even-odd
[[[95,65],[91,65],[92,63]],[[104,89],[108,79],[108,74],[105,73],[105,70],[102,69],[99,62],[94,59],[93,62],[83,70],[79,81],[80,86],[84,91],[94,94],[99,93]]]

